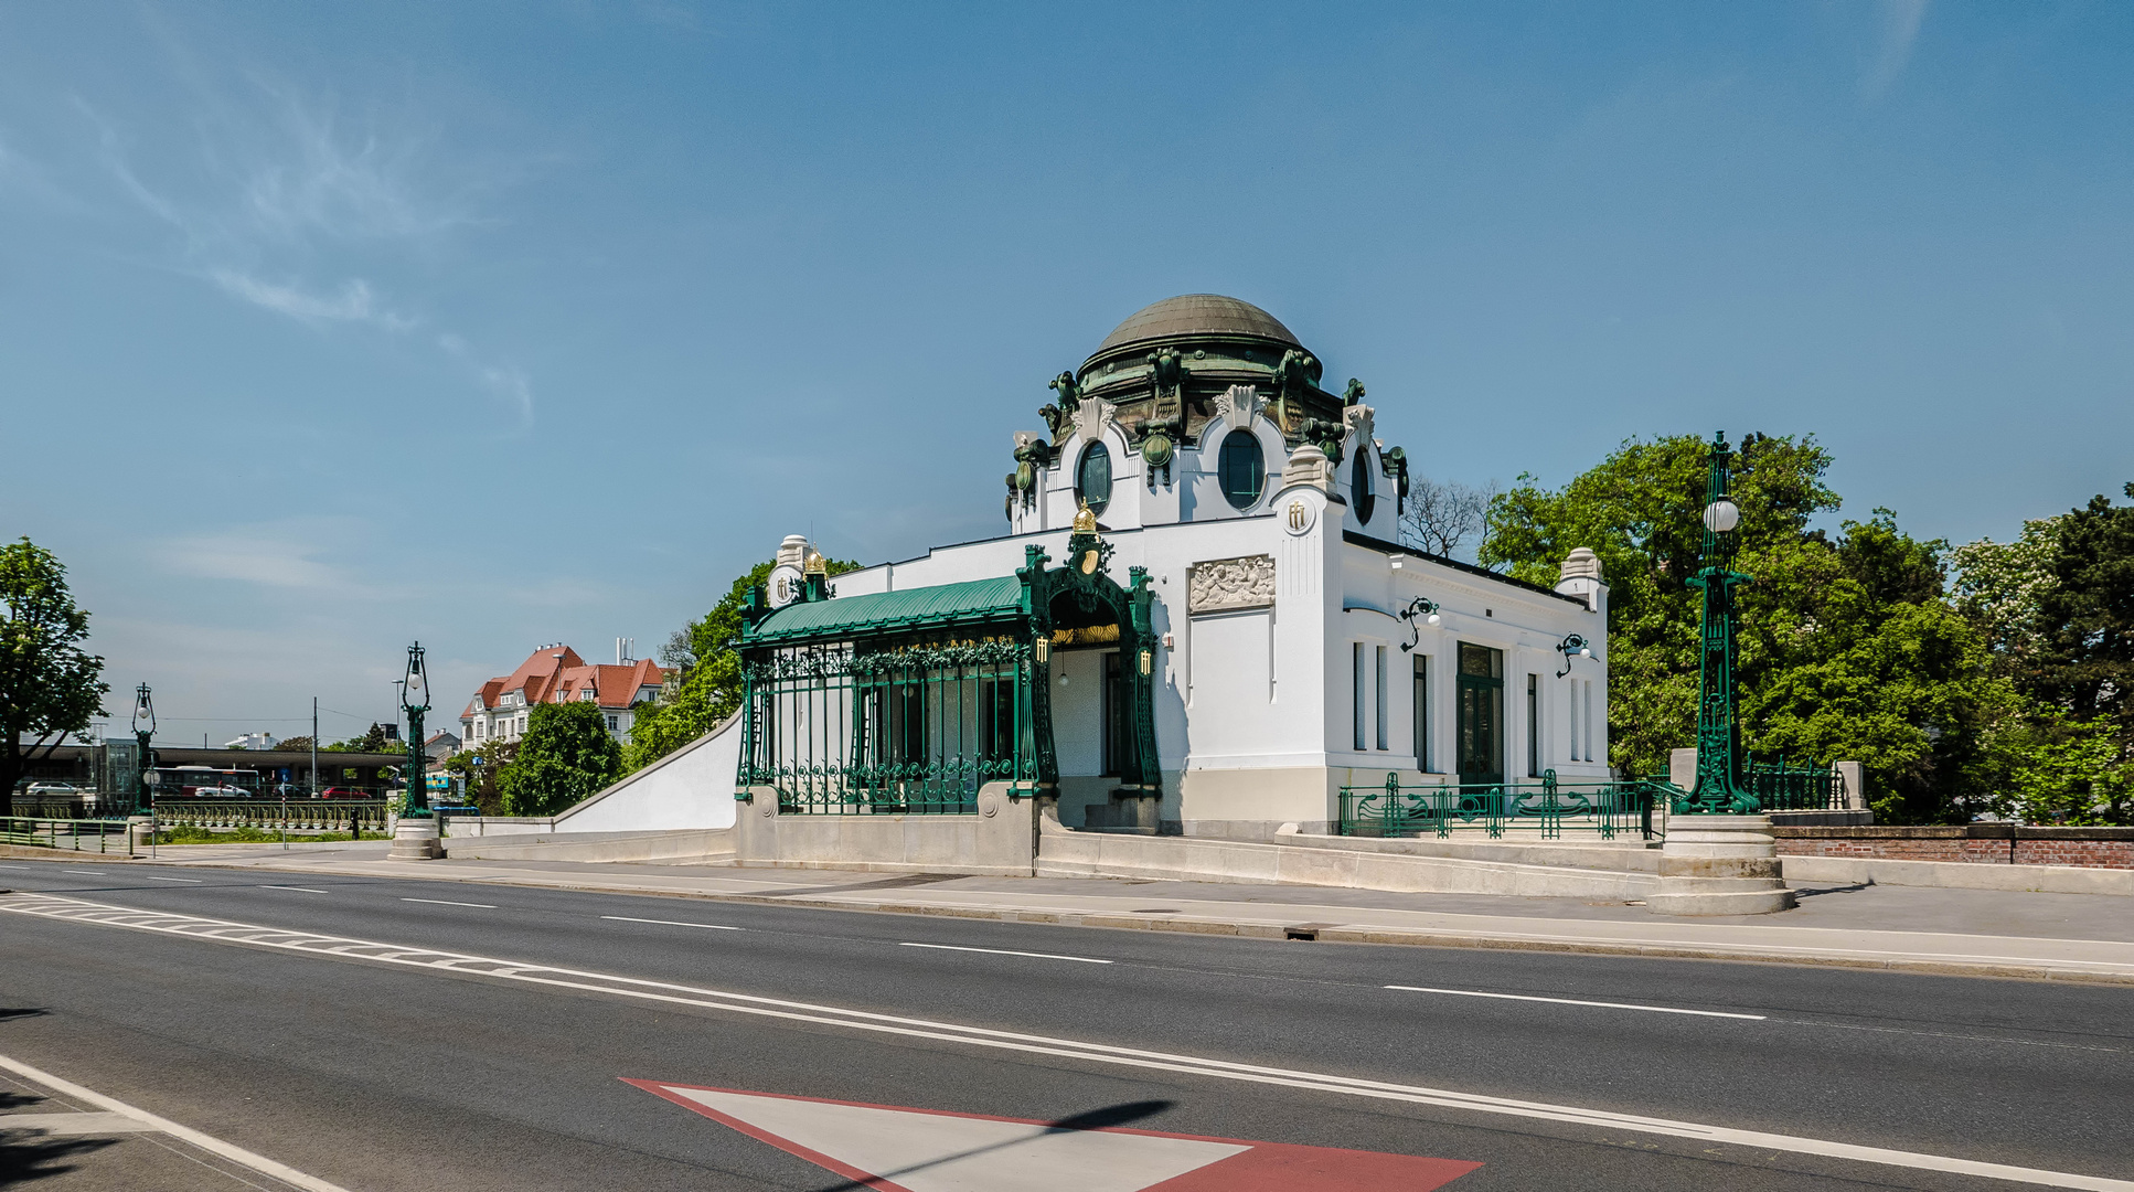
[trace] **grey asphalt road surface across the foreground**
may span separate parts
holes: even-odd
[[[2121,987],[94,863],[0,863],[0,887],[598,976],[542,985],[0,914],[0,1055],[356,1192],[851,1188],[625,1079],[1481,1162],[1460,1192],[2017,1186],[1236,1079],[1206,1060],[2134,1179]],[[1148,897],[1163,908],[1163,884]],[[851,1013],[1039,1042],[888,1034]]]

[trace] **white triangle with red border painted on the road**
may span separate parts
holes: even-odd
[[[1479,1162],[630,1081],[875,1192],[1428,1192]],[[1086,1115],[1084,1119],[1101,1119]]]

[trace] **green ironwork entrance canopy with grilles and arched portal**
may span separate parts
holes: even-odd
[[[777,611],[751,592],[736,797],[770,786],[785,814],[969,814],[986,782],[1052,795],[1052,652],[1112,643],[1129,711],[1120,790],[1159,795],[1154,596],[1144,568],[1112,579],[1112,545],[1086,521],[1067,566],[1026,547],[992,579],[837,598],[811,575]]]

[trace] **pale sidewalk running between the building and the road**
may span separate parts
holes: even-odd
[[[1637,904],[1118,878],[881,876],[576,861],[388,861],[384,844],[162,848],[132,865],[418,878],[1020,923],[1750,959],[2134,985],[2134,914],[2102,895],[1803,889],[1769,916],[1662,919]]]

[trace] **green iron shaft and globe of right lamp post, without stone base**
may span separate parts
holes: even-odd
[[[1705,545],[1690,587],[1705,594],[1703,666],[1697,690],[1697,784],[1675,801],[1677,814],[1750,816],[1761,810],[1741,788],[1741,726],[1735,699],[1735,613],[1733,590],[1750,577],[1733,570],[1735,528],[1741,506],[1726,496],[1733,451],[1726,432],[1711,436],[1705,481]]]

